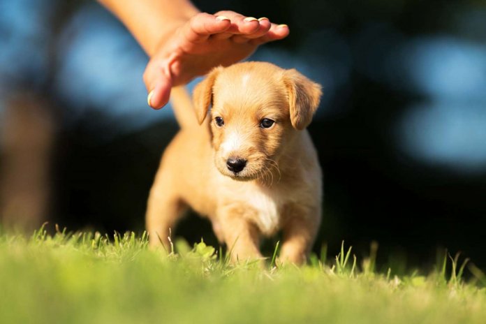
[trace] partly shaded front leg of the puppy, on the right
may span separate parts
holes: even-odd
[[[295,211],[294,211],[295,212]],[[291,213],[283,224],[283,244],[280,260],[301,265],[305,263],[316,239],[321,211]]]

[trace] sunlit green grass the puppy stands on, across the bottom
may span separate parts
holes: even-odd
[[[485,323],[485,276],[445,255],[396,277],[344,246],[327,263],[230,265],[211,246],[145,235],[0,235],[0,323]],[[275,266],[276,265],[276,266]],[[471,268],[473,281],[464,282]]]

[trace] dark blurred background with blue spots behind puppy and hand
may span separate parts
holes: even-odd
[[[252,60],[323,84],[309,131],[325,178],[316,251],[431,265],[436,250],[486,267],[483,1],[194,1],[290,26]],[[95,1],[0,0],[3,228],[141,231],[170,108],[147,107],[147,57]],[[191,83],[192,87],[194,82]],[[177,229],[216,244],[207,221]]]

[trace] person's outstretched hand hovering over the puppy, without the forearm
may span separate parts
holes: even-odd
[[[169,101],[170,88],[248,57],[258,45],[285,38],[285,24],[245,17],[233,11],[198,13],[163,37],[145,68],[147,101],[154,109]]]

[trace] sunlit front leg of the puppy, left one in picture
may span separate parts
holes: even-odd
[[[248,211],[245,211],[248,212]],[[219,213],[221,232],[233,262],[262,258],[258,228],[248,221],[240,208],[224,208]]]

